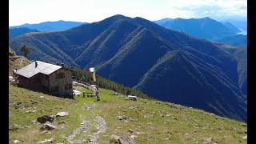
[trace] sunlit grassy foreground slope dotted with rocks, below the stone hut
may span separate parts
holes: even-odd
[[[99,135],[98,143],[109,143],[111,134],[137,135],[138,138],[134,139],[137,143],[202,143],[206,141],[205,138],[210,137],[213,138],[213,143],[247,142],[242,139],[247,129],[246,126],[241,125],[242,122],[169,102],[157,104],[153,100],[146,99],[138,99],[135,102],[113,96],[110,90],[103,89],[100,89],[101,102],[96,102],[95,98],[80,96],[70,100],[11,85],[9,88],[9,127],[11,128],[14,124],[22,126],[18,130],[9,130],[10,143],[16,139],[20,142],[35,143],[46,138],[54,138],[54,143],[67,142],[66,138],[62,137],[68,137],[73,130],[77,129],[81,118],[86,119],[87,125],[84,130],[87,132],[76,135],[73,142],[86,140],[87,143],[89,135],[97,131],[95,127],[97,123],[94,122],[97,114],[106,121],[106,131]],[[84,90],[82,87],[75,88]],[[30,102],[32,99],[38,103],[32,104]],[[16,102],[22,102],[18,109],[14,108]],[[86,106],[90,106],[90,110],[84,110]],[[37,111],[26,113],[27,110]],[[58,129],[52,130],[51,134],[41,134],[39,130],[41,124],[32,122],[39,116],[57,114],[61,111],[66,111],[69,115],[54,120],[53,124],[58,126]],[[119,115],[126,115],[134,121],[118,120],[116,117]],[[57,122],[60,121],[65,121],[66,125],[58,125]],[[134,132],[130,133],[129,129]],[[136,134],[136,132],[145,134]]]

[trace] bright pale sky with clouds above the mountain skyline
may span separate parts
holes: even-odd
[[[98,22],[114,14],[162,18],[247,18],[246,0],[9,0],[9,26],[46,21]]]

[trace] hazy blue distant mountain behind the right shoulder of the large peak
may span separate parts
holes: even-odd
[[[231,23],[218,22],[211,18],[175,18],[164,23],[161,20],[154,21],[160,26],[170,30],[183,31],[197,38],[205,38],[213,41],[227,36],[234,36],[238,33],[238,28]]]

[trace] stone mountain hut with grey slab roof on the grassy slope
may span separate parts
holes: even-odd
[[[46,62],[35,61],[14,71],[18,86],[64,98],[73,98],[72,70]]]

